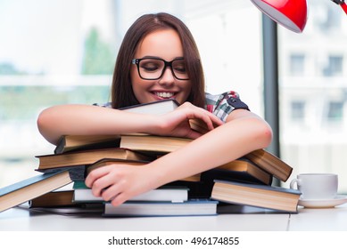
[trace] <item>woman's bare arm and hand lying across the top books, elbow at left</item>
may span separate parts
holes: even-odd
[[[200,118],[208,128],[221,121],[203,108],[184,103],[163,115],[145,115],[88,105],[62,105],[46,108],[37,118],[39,132],[56,144],[62,135],[150,133],[195,139],[201,134],[190,129],[188,119]]]

